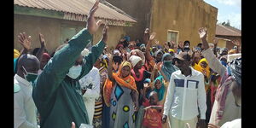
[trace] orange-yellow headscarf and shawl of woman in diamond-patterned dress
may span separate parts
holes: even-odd
[[[117,82],[119,85],[129,88],[131,90],[135,90],[138,93],[135,80],[131,76],[131,73],[125,78],[122,78],[121,76],[121,70],[123,67],[126,67],[126,66],[130,67],[131,69],[131,62],[123,61],[119,66],[118,73],[113,73],[113,79],[115,79],[115,82]],[[110,107],[110,97],[111,97],[112,90],[113,90],[113,82],[110,79],[106,79],[106,82],[103,86],[103,98],[104,98],[104,102],[108,107]]]

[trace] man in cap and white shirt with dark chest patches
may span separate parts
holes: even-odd
[[[191,57],[188,52],[180,53],[175,60],[180,70],[172,73],[162,121],[166,123],[168,116],[172,128],[184,128],[186,123],[189,123],[191,128],[195,128],[197,122],[201,128],[204,128],[207,111],[204,76],[189,67]],[[199,121],[197,121],[198,107],[201,113]]]

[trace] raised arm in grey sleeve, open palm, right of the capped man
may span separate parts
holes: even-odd
[[[209,67],[214,71],[217,72],[220,76],[223,76],[226,67],[224,67],[220,61],[216,58],[216,56],[213,54],[212,49],[209,49],[209,44],[207,43],[207,29],[200,28],[199,29],[199,36],[202,41],[203,48],[205,49],[202,52],[202,55],[207,59],[209,63]]]

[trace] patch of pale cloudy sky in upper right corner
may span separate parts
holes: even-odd
[[[230,20],[230,26],[241,29],[241,0],[204,0],[218,8],[218,23]]]

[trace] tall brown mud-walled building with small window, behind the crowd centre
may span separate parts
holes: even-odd
[[[192,46],[200,43],[200,27],[207,27],[208,41],[215,37],[218,9],[203,0],[107,0],[137,19],[126,30],[131,39],[142,38],[146,27],[156,32],[156,39],[166,41],[189,40]]]

